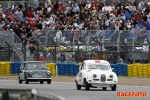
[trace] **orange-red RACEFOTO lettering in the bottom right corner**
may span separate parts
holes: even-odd
[[[117,97],[121,97],[121,98],[143,97],[143,98],[146,98],[147,93],[146,92],[117,92]]]

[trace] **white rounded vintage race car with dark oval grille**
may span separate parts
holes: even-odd
[[[110,87],[112,91],[115,91],[118,77],[112,70],[110,63],[105,60],[83,61],[75,79],[77,90],[81,87],[85,87],[85,90],[89,90],[90,87],[106,90]]]

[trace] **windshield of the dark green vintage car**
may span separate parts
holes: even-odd
[[[27,69],[47,69],[45,63],[28,63]]]

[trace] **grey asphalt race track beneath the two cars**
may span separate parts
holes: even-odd
[[[15,80],[0,80],[0,88],[35,88],[39,92],[51,93],[58,95],[65,100],[150,100],[150,87],[142,86],[124,86],[118,85],[116,91],[107,89],[91,88],[89,91],[85,91],[84,87],[81,90],[76,90],[75,83],[64,83],[64,82],[52,82],[51,84],[40,84],[40,83],[29,83],[19,84]],[[117,92],[147,92],[148,96],[133,97],[133,98],[118,98]]]

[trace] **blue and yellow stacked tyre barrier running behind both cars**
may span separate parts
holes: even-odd
[[[22,62],[0,62],[0,74],[18,74]],[[46,63],[48,69],[51,71],[52,76],[65,75],[74,76],[78,73],[79,67],[82,62],[79,63]],[[57,67],[56,67],[57,66]],[[113,71],[118,76],[150,76],[150,63],[149,64],[111,64]]]

